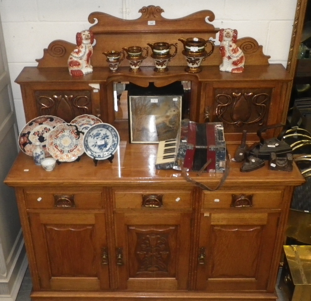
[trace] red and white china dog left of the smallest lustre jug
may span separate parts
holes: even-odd
[[[94,35],[91,30],[83,30],[76,35],[77,48],[68,58],[68,70],[72,76],[82,76],[93,72],[90,60],[93,54]]]

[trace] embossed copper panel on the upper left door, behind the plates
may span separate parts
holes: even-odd
[[[70,122],[76,116],[91,113],[91,92],[36,91],[38,115],[52,115]]]

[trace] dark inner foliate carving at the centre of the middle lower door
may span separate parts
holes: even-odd
[[[137,233],[135,256],[140,272],[166,272],[170,259],[168,233]]]

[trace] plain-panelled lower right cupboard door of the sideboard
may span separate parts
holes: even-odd
[[[265,290],[278,213],[201,215],[197,289]]]

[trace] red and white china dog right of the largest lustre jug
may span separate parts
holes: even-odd
[[[243,51],[235,44],[238,38],[236,29],[221,29],[219,32],[220,54],[222,64],[220,71],[241,73],[244,71],[245,57]]]

